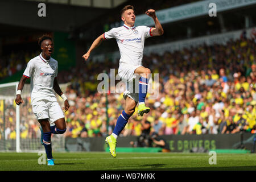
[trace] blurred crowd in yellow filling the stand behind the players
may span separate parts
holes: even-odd
[[[146,105],[151,111],[139,117],[135,110],[121,135],[141,135],[145,122],[150,122],[151,132],[159,135],[255,133],[255,60],[256,40],[243,36],[226,45],[202,45],[164,55],[145,55],[143,65],[151,69],[153,76],[159,73],[159,82],[152,78],[147,94]],[[107,71],[110,75],[110,68],[117,73],[118,62],[86,61],[84,66],[71,69],[74,74],[59,72],[60,83],[71,83],[65,90],[70,104],[65,113],[65,137],[112,133],[125,101],[122,93],[108,92],[106,96],[97,92],[98,74]],[[157,93],[158,97],[149,99]],[[15,120],[14,107],[12,103],[8,108],[6,138],[15,136],[15,123],[11,122]],[[21,108],[21,137],[39,138],[39,124],[30,109],[29,97]],[[0,119],[1,127],[2,123]]]

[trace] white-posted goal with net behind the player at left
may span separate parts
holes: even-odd
[[[60,84],[64,91],[68,84]],[[23,104],[15,104],[18,82],[0,84],[0,151],[38,152],[44,151],[40,142],[40,124],[31,106],[30,84],[22,90]],[[60,105],[63,101],[57,96]],[[65,151],[63,135],[52,135],[52,151]]]

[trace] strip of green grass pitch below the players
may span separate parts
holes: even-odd
[[[8,171],[118,171],[118,170],[256,170],[256,154],[217,154],[209,164],[208,153],[53,152],[55,166],[39,165],[38,153],[0,153],[0,170]]]

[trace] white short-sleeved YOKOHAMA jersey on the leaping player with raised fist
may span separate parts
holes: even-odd
[[[151,28],[146,26],[112,28],[104,33],[105,39],[115,38],[120,51],[119,65],[127,63],[130,65],[142,65],[144,40],[152,36]]]

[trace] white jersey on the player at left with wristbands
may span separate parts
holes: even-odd
[[[57,77],[58,62],[52,57],[43,58],[42,53],[27,63],[23,76],[31,78],[31,104],[39,100],[57,101],[53,93],[53,81]]]

